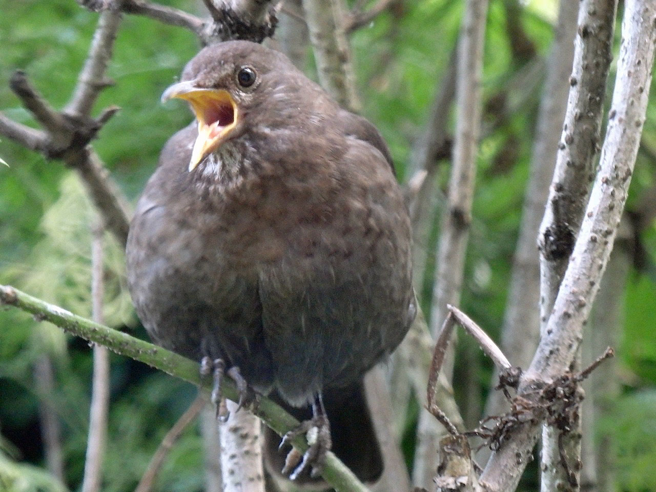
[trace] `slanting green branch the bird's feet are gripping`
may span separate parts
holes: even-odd
[[[9,285],[0,285],[0,304],[14,306],[33,314],[38,321],[49,321],[72,335],[104,345],[121,356],[148,364],[173,377],[195,384],[202,390],[211,390],[211,380],[201,380],[198,363],[174,352],[77,316]],[[231,380],[224,379],[222,389],[226,398],[238,399],[237,388]],[[262,398],[253,413],[280,435],[298,425],[298,420],[268,398]],[[292,442],[300,451],[304,452],[308,448],[308,443],[302,436]],[[368,492],[367,487],[359,482],[353,472],[333,453],[328,453],[322,476],[338,492]]]

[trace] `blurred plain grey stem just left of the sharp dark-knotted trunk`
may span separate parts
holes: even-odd
[[[536,241],[565,117],[569,91],[566,81],[572,69],[578,13],[577,2],[560,2],[558,25],[547,61],[546,80],[535,130],[520,235],[510,274],[508,302],[501,328],[501,350],[519,367],[528,367],[531,363],[539,339],[540,264]],[[493,382],[498,378],[499,371],[495,371]],[[485,415],[501,415],[507,408],[508,403],[502,392],[493,391],[487,400]],[[478,453],[483,463],[489,455],[487,447]]]

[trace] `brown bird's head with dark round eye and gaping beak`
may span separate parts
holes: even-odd
[[[249,41],[205,47],[186,66],[182,80],[161,96],[188,101],[198,121],[189,171],[231,138],[243,134],[279,84],[280,73],[295,72],[287,58]]]

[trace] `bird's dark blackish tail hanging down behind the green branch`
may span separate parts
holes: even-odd
[[[271,396],[299,421],[312,418],[312,410],[294,408],[274,394]],[[382,474],[382,455],[380,445],[371,421],[369,407],[365,400],[363,383],[348,388],[336,388],[323,392],[323,403],[330,421],[333,453],[356,474],[362,482],[375,482]],[[274,476],[281,476],[285,456],[289,448],[278,450],[279,436],[270,428],[264,433],[264,462]],[[325,482],[321,478],[310,478],[304,472],[295,480],[297,485],[311,489],[321,489]]]

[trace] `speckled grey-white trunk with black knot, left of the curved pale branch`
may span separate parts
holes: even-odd
[[[569,253],[579,232],[588,201],[588,182],[594,178],[594,161],[602,120],[605,85],[612,59],[617,0],[584,0],[579,10],[573,70],[565,123],[556,158],[548,205],[541,224],[541,327],[547,324],[567,268]],[[544,334],[544,332],[543,332]],[[579,367],[577,363],[577,367]],[[575,413],[580,417],[579,413]],[[542,447],[543,492],[554,487],[579,489],[581,468],[580,419],[571,432],[545,427]],[[562,454],[567,455],[567,468]]]

